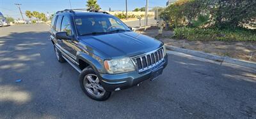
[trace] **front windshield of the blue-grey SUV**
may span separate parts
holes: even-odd
[[[121,20],[112,16],[92,15],[75,17],[79,35],[131,31]]]

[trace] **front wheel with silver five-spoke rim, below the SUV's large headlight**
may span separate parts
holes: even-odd
[[[83,92],[96,101],[106,101],[111,92],[106,91],[100,84],[99,76],[92,69],[92,67],[86,67],[83,69],[79,76],[79,82]]]

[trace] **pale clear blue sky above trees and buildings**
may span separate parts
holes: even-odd
[[[86,8],[87,0],[70,0],[72,8]],[[148,0],[149,7],[165,6],[167,0]],[[22,12],[26,10],[49,12],[52,14],[58,10],[70,8],[68,0],[0,0],[0,11],[6,16],[13,18],[21,18],[19,9],[14,3],[22,4],[20,6]],[[125,0],[98,0],[98,4],[102,10],[125,10]],[[146,0],[127,0],[128,10],[141,8],[146,5]],[[26,16],[24,16],[25,19]]]

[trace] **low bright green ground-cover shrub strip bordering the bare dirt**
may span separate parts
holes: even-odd
[[[189,41],[256,41],[256,32],[246,29],[218,30],[182,27],[174,29],[173,38]]]

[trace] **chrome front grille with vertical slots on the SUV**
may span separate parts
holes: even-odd
[[[139,72],[146,71],[151,67],[156,66],[163,61],[164,50],[159,48],[152,52],[144,53],[135,57],[131,57],[132,62],[134,62],[136,68]]]

